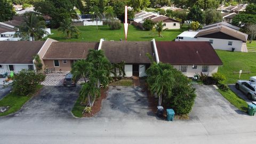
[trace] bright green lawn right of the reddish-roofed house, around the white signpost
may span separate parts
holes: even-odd
[[[256,53],[255,52],[229,52],[216,50],[223,66],[219,67],[219,72],[226,76],[226,84],[234,84],[239,79],[239,74],[234,71],[251,71],[251,74],[242,74],[240,79],[247,79],[256,76]]]

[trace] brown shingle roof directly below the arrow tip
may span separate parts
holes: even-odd
[[[146,53],[153,54],[152,42],[103,42],[101,49],[111,63],[150,63]]]

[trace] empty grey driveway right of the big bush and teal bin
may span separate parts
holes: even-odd
[[[196,100],[190,113],[192,119],[213,121],[213,119],[229,119],[246,115],[231,105],[212,85],[194,85]]]

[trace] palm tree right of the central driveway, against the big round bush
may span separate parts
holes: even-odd
[[[162,105],[163,96],[171,95],[175,82],[172,67],[165,63],[154,62],[146,71],[148,78],[147,83],[151,93],[158,96],[158,106]]]

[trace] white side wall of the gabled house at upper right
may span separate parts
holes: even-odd
[[[242,51],[243,41],[231,40],[231,39],[217,39],[217,38],[205,38],[197,37],[197,41],[207,41],[213,39],[212,47],[217,50],[231,51],[232,47],[235,48],[235,51]],[[228,42],[233,42],[232,45],[228,45]]]

